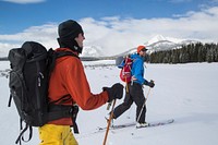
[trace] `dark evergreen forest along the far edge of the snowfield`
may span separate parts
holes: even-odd
[[[181,49],[153,52],[150,63],[218,62],[218,44],[191,44]]]

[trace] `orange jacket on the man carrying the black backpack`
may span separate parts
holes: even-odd
[[[68,48],[58,48],[56,51],[71,51]],[[57,59],[56,67],[49,82],[49,101],[56,101],[70,94],[72,100],[65,105],[77,104],[83,110],[96,109],[108,101],[108,93],[90,93],[83,64],[80,59],[66,56]],[[50,121],[52,124],[72,125],[71,118]]]

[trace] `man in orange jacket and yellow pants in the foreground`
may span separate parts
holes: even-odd
[[[69,20],[58,27],[60,48],[56,51],[71,51],[78,56],[83,50],[84,32],[82,26]],[[105,87],[99,94],[90,92],[84,68],[78,58],[65,56],[57,59],[49,81],[49,102],[78,106],[84,110],[96,109],[113,99],[121,99],[123,86],[116,83]],[[70,126],[72,118],[53,120],[39,128],[39,145],[77,145]]]

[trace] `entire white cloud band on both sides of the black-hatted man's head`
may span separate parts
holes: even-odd
[[[218,43],[218,7],[190,11],[172,17],[121,19],[119,16],[78,21],[85,32],[85,46],[98,46],[105,56],[117,55],[143,45],[156,35],[203,43]],[[33,26],[14,35],[0,35],[0,44],[8,49],[25,40],[36,40],[47,48],[56,48],[58,23]],[[11,45],[12,46],[11,46]],[[4,48],[5,49],[5,48]],[[0,45],[2,50],[2,45]]]

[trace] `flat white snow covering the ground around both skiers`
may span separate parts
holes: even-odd
[[[83,62],[93,93],[102,86],[111,86],[119,80],[116,67],[89,67],[114,61]],[[156,86],[147,100],[146,121],[174,119],[172,124],[136,130],[135,128],[110,131],[107,145],[217,145],[218,144],[218,63],[146,64],[145,77],[155,80]],[[0,61],[0,70],[9,69],[9,62]],[[0,77],[0,141],[13,145],[19,135],[19,116],[14,104],[8,108],[8,78]],[[145,95],[148,87],[144,87]],[[118,100],[117,105],[122,100]],[[105,132],[89,134],[98,126],[106,126],[107,105],[92,111],[81,110],[77,123],[81,134],[75,135],[80,145],[100,145]],[[135,105],[114,124],[135,120]],[[37,129],[31,142],[39,143]]]

